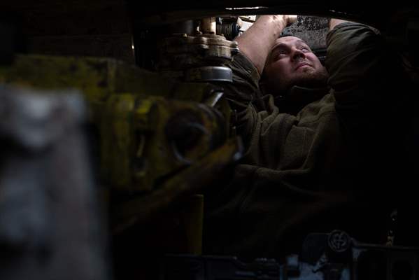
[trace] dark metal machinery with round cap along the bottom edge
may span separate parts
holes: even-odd
[[[418,248],[362,244],[346,232],[313,233],[301,255],[285,263],[259,258],[244,263],[227,256],[166,255],[161,279],[417,279]]]

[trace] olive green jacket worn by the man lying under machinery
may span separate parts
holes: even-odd
[[[334,229],[385,241],[395,201],[385,184],[403,185],[406,165],[408,94],[392,53],[369,27],[338,25],[327,36],[329,87],[293,87],[317,97],[296,116],[260,98],[255,66],[235,57],[225,94],[246,155],[227,186],[206,194],[204,253],[279,258],[308,233]]]

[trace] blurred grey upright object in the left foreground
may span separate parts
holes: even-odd
[[[108,279],[76,91],[0,87],[0,279]]]

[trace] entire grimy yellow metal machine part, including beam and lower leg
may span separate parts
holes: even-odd
[[[92,145],[100,147],[95,156],[115,232],[181,201],[178,215],[187,221],[189,240],[184,253],[199,253],[203,199],[190,195],[240,151],[229,137],[230,110],[220,87],[174,82],[115,59],[39,55],[17,55],[1,66],[0,83],[80,90],[97,132]]]

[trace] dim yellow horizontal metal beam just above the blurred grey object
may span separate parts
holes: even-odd
[[[175,84],[150,71],[115,59],[18,55],[0,67],[0,83],[43,89],[76,88],[88,102],[101,102],[111,93],[162,95]]]

